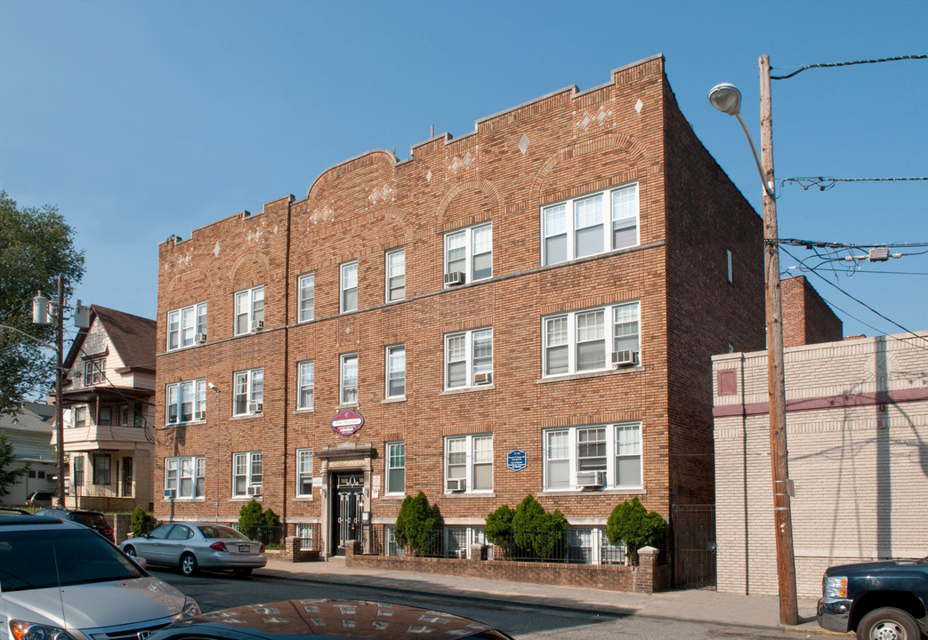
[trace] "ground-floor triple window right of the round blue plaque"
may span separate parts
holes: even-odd
[[[546,491],[642,486],[640,423],[548,429],[544,446]]]

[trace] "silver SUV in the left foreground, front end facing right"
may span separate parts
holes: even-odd
[[[0,512],[0,640],[135,640],[198,613],[96,532]]]

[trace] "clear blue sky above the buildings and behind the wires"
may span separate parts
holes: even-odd
[[[910,2],[0,2],[0,188],[57,205],[86,251],[85,303],[155,317],[158,244],[294,194],[374,148],[400,158],[474,122],[663,53],[702,143],[757,211],[761,185],[733,119],[735,83],[759,145],[757,58],[800,65],[928,53]],[[928,242],[928,60],[806,70],[773,84],[780,237]],[[789,248],[784,270],[812,253]],[[898,250],[913,253],[921,248]],[[811,264],[818,264],[812,261]],[[845,335],[928,328],[928,256],[806,273]],[[790,273],[800,273],[790,269]]]

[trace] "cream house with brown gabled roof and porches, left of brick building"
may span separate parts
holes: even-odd
[[[64,366],[67,505],[150,510],[155,321],[93,305]]]

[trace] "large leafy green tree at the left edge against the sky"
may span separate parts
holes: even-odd
[[[19,208],[0,190],[0,412],[15,413],[36,390],[54,385],[54,353],[24,337],[55,341],[54,326],[32,324],[32,298],[58,291],[64,277],[65,298],[84,276],[84,251],[76,250],[74,231],[58,209]]]

